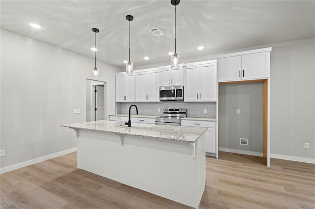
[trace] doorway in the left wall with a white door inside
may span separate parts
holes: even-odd
[[[86,121],[105,120],[106,83],[86,80]]]

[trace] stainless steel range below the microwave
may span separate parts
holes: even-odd
[[[186,117],[186,108],[164,108],[163,116],[156,118],[156,125],[180,126],[181,118]]]

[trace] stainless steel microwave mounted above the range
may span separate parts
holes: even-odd
[[[159,100],[161,101],[184,100],[184,86],[159,87]]]

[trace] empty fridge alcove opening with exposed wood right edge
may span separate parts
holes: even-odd
[[[268,79],[221,82],[218,103],[220,151],[259,156],[269,166]]]

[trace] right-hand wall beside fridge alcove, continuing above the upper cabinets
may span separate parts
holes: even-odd
[[[181,63],[211,60],[220,54],[266,47],[272,47],[270,53],[271,157],[315,163],[315,37],[198,57],[185,57],[181,58]],[[134,67],[139,70],[169,64],[170,61],[141,66],[134,63]],[[124,70],[122,68],[122,71]],[[310,149],[304,149],[304,142],[310,143]]]

